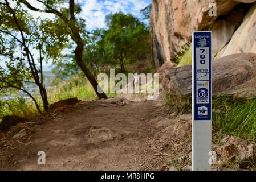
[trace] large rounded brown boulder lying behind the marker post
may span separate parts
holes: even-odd
[[[213,94],[235,94],[252,97],[256,94],[256,54],[235,54],[213,61]],[[191,96],[191,65],[165,71],[162,85],[173,95]]]

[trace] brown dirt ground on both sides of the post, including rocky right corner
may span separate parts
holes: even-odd
[[[116,97],[47,111],[0,133],[0,170],[191,170],[191,114],[162,103]],[[214,170],[255,169],[253,144],[224,135],[217,146],[212,133]]]

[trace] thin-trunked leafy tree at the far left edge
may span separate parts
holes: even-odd
[[[6,65],[5,68],[0,68],[0,90],[5,91],[9,88],[22,90],[32,98],[36,108],[42,113],[35,98],[24,85],[29,82],[38,86],[44,110],[48,110],[47,93],[43,84],[43,45],[38,24],[19,6],[19,3],[15,9],[7,0],[0,2],[0,6],[0,55]],[[39,51],[39,67],[31,49]]]

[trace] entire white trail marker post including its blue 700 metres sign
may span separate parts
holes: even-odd
[[[192,170],[210,171],[212,32],[192,32]]]

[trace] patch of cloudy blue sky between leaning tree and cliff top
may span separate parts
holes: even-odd
[[[86,29],[105,28],[105,15],[122,11],[140,17],[151,0],[78,0],[82,6],[81,16],[86,19]]]

